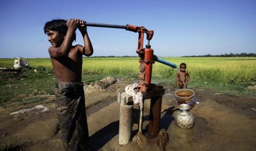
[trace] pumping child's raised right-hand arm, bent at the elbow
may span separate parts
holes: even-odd
[[[88,36],[87,27],[84,25],[84,20],[79,20],[80,26],[78,27],[79,31],[81,32],[84,38],[84,47],[79,48],[79,51],[83,53],[85,56],[91,56],[94,53],[94,49],[91,44],[91,40]]]

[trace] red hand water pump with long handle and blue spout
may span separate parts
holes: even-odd
[[[151,49],[150,40],[154,35],[153,30],[147,30],[143,26],[133,26],[127,24],[126,26],[122,25],[112,25],[112,24],[97,24],[86,22],[85,26],[91,27],[107,27],[107,28],[121,28],[127,31],[138,32],[138,48],[136,53],[139,55],[140,59],[140,66],[139,66],[139,91],[143,94],[143,101],[151,98],[150,102],[150,117],[149,117],[149,131],[147,132],[148,135],[151,137],[157,136],[160,130],[160,116],[161,116],[161,104],[162,104],[162,95],[165,94],[165,89],[163,86],[156,85],[151,83],[151,74],[152,74],[152,64],[155,61],[163,63],[167,66],[171,66],[173,68],[177,68],[175,63],[167,62],[158,58],[154,55],[154,50]],[[146,39],[148,40],[148,44],[146,48],[143,48],[143,40],[144,40],[144,33],[146,34]],[[139,121],[139,131],[142,130],[142,123],[143,123],[143,109],[140,112],[140,121]]]

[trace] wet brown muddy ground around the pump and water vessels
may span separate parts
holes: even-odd
[[[91,150],[162,150],[143,137],[134,136],[138,132],[137,104],[133,109],[133,140],[127,145],[118,144],[117,93],[123,92],[129,84],[132,83],[121,80],[85,85]],[[195,125],[184,130],[175,124],[173,118],[178,111],[175,98],[178,88],[171,85],[164,85],[164,88],[160,123],[168,135],[165,150],[256,150],[255,97],[231,97],[211,90],[193,89],[197,104],[190,112],[195,116]],[[63,150],[54,99],[55,96],[49,96],[47,100],[26,106],[1,107],[1,144],[13,146],[12,150]],[[40,104],[47,109],[33,108]],[[149,123],[149,104],[150,100],[145,100],[144,132]],[[30,111],[13,113],[21,109]]]

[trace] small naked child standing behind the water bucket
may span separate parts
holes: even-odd
[[[179,85],[179,89],[187,89],[188,86],[188,81],[189,81],[189,74],[186,71],[187,65],[186,63],[181,63],[179,65],[179,71],[177,72],[176,75],[176,84],[177,86]]]

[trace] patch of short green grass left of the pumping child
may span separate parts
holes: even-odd
[[[34,73],[34,69],[37,72]],[[39,102],[54,94],[55,75],[43,67],[22,68],[20,73],[1,72],[0,75],[0,105]]]

